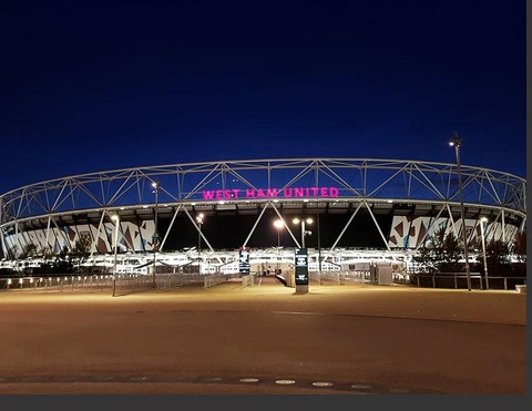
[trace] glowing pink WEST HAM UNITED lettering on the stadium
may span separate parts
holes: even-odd
[[[203,199],[337,198],[337,187],[206,189]]]

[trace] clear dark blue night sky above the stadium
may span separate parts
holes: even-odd
[[[0,0],[0,193],[102,169],[354,157],[525,176],[525,0]]]

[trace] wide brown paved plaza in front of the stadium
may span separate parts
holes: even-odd
[[[1,290],[1,394],[524,394],[526,294]]]

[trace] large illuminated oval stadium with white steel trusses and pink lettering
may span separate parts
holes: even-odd
[[[263,270],[289,267],[307,248],[310,270],[356,269],[376,258],[409,261],[438,229],[511,244],[525,229],[525,188],[501,171],[381,158],[102,171],[1,194],[2,264],[68,255],[83,240],[93,261],[108,264],[113,254],[135,264],[156,255],[224,274],[238,271],[242,250]]]

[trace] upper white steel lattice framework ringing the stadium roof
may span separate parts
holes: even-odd
[[[29,242],[42,243],[42,238],[51,245],[48,232],[79,224],[80,215],[96,215],[94,220],[104,224],[110,213],[137,210],[144,219],[153,220],[155,208],[190,215],[196,209],[245,209],[253,204],[259,214],[267,206],[278,210],[284,204],[305,204],[345,208],[352,214],[360,207],[370,213],[381,207],[400,216],[407,206],[413,216],[429,216],[428,210],[432,210],[432,217],[448,213],[454,220],[460,205],[458,176],[457,164],[379,158],[247,160],[80,174],[2,194],[2,249],[9,255],[16,244],[22,247]],[[468,165],[461,165],[461,178],[468,220],[489,217],[493,238],[505,240],[524,230],[524,178]],[[158,198],[154,196],[154,182]],[[324,187],[334,187],[335,195],[321,191]],[[297,198],[282,195],[294,189],[303,194]],[[44,237],[29,236],[38,229],[47,230]],[[382,233],[385,243],[390,235]]]

